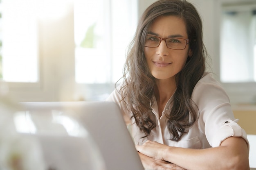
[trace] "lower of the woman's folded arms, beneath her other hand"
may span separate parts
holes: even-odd
[[[139,157],[143,167],[148,170],[185,170],[184,168],[181,168],[173,163],[154,159],[142,153],[139,153]]]

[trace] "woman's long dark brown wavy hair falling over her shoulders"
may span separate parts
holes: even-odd
[[[155,78],[146,63],[144,40],[150,25],[161,15],[174,15],[184,20],[189,48],[193,52],[184,68],[175,75],[177,89],[173,94],[173,107],[165,112],[170,139],[179,141],[186,129],[198,120],[198,107],[191,100],[191,95],[205,71],[206,50],[202,40],[202,21],[191,3],[186,0],[158,0],[144,11],[129,46],[120,93],[137,126],[146,134],[144,137],[148,136],[156,126],[150,119],[156,86]]]

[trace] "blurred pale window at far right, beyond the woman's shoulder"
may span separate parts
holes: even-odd
[[[220,79],[256,82],[256,3],[222,8]]]

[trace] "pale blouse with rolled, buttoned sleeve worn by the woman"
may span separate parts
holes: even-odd
[[[106,101],[116,102],[127,121],[132,116],[132,113],[126,109],[124,101],[121,101],[121,95],[118,92],[119,88],[115,89]],[[165,116],[165,111],[169,111],[172,107],[172,97],[166,103],[160,118],[157,101],[154,97],[150,118],[155,121],[156,127],[151,130],[147,137],[141,138],[145,134],[139,130],[134,119],[132,119],[129,129],[135,144],[141,145],[149,139],[168,146],[202,149],[220,146],[222,141],[234,136],[243,137],[249,147],[246,132],[237,124],[238,119],[234,118],[229,97],[222,85],[212,77],[211,73],[204,74],[195,85],[192,100],[199,109],[198,121],[188,129],[187,133],[182,135],[180,141],[174,142],[170,140],[171,136],[166,126]]]

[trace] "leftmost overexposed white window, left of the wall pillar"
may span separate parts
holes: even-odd
[[[1,2],[1,75],[8,82],[38,81],[36,3]]]

